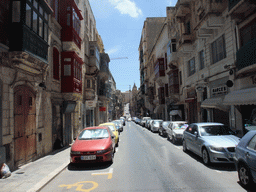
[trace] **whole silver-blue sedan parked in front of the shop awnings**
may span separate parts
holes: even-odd
[[[183,133],[183,151],[203,158],[204,164],[234,162],[239,137],[222,123],[192,123]]]

